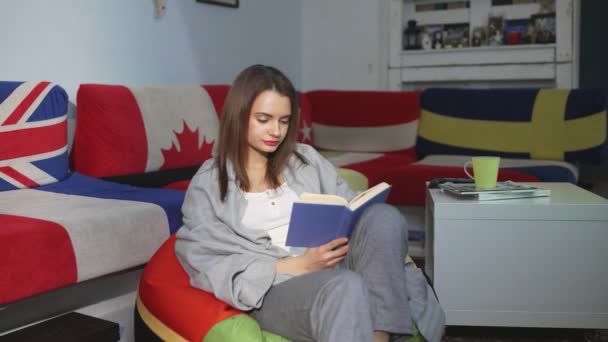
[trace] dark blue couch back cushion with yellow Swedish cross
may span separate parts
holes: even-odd
[[[427,89],[416,143],[429,154],[596,163],[606,144],[606,91]]]

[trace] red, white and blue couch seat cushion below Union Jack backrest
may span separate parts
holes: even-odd
[[[147,262],[181,226],[183,199],[79,174],[0,192],[0,303]]]

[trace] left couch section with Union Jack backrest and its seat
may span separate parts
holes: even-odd
[[[0,82],[0,332],[68,310],[46,294],[141,267],[181,225],[184,193],[68,168],[68,96]]]

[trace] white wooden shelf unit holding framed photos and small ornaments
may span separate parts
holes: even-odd
[[[580,0],[555,0],[556,41],[553,44],[439,50],[403,50],[403,30],[408,20],[416,20],[418,25],[468,23],[472,28],[487,26],[490,15],[501,15],[505,19],[529,18],[540,10],[540,5],[492,6],[491,0],[469,0],[468,8],[416,12],[416,6],[420,4],[449,3],[454,0],[390,1],[390,89],[578,86]]]

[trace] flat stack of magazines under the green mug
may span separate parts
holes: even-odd
[[[541,189],[536,186],[512,181],[497,182],[496,187],[491,189],[478,189],[475,187],[475,184],[456,184],[451,182],[439,184],[439,187],[446,193],[463,198],[476,198],[480,201],[547,197],[551,195],[551,190],[549,189]]]

